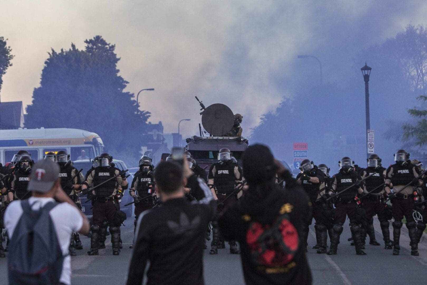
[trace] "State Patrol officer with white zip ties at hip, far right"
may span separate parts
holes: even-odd
[[[409,160],[409,153],[406,150],[398,150],[395,156],[395,164],[390,165],[386,171],[385,190],[387,196],[393,204],[393,255],[399,255],[400,251],[400,232],[402,227],[402,219],[406,217],[406,227],[408,229],[411,255],[418,256],[418,238],[417,224],[412,216],[415,208],[414,188],[422,185],[422,180],[418,179],[421,173],[415,165]],[[405,185],[411,183],[410,186],[404,188]],[[391,191],[393,189],[393,192]]]

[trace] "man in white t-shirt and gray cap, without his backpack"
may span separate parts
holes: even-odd
[[[50,160],[41,160],[32,167],[28,191],[32,191],[32,197],[28,199],[33,210],[40,209],[46,203],[55,201],[60,203],[50,211],[50,217],[53,220],[56,229],[56,235],[61,247],[62,253],[68,254],[70,237],[73,232],[80,232],[84,235],[89,232],[89,221],[87,217],[79,211],[76,204],[65,194],[61,188],[61,179],[59,176],[59,166]],[[20,200],[9,204],[4,214],[4,224],[9,237],[13,237],[13,232],[17,226],[23,209]],[[9,254],[13,252],[9,251]],[[61,278],[61,284],[71,284],[71,257],[64,259]]]

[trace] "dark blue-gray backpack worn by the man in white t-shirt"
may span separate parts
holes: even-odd
[[[65,256],[49,214],[56,205],[49,202],[34,211],[28,200],[21,201],[23,213],[9,244],[9,284],[59,283]]]

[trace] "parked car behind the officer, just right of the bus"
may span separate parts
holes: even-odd
[[[120,170],[127,169],[126,164],[123,161],[113,159],[113,162],[115,164],[115,167],[117,167],[118,169],[120,169]],[[89,169],[91,169],[92,162],[90,160],[75,160],[73,162],[73,166],[76,167],[77,170],[80,170],[81,168],[83,168],[82,173],[83,173],[83,175],[85,175],[89,171]],[[129,182],[129,186],[130,186],[130,183],[132,182],[132,179],[133,179],[133,175],[132,175],[132,173],[129,173],[129,174],[131,174],[131,176],[129,176],[127,178],[127,180]],[[132,215],[133,215],[133,204],[126,206],[126,207],[124,207],[123,205],[132,202],[133,199],[129,195],[128,190],[125,190],[124,192],[125,193],[122,197],[122,200],[120,201],[120,210],[125,212],[127,217],[132,217]],[[83,195],[82,197],[80,197],[80,199],[82,202],[82,212],[84,212],[86,216],[92,217],[92,203],[91,203],[91,201],[86,198],[86,195]]]

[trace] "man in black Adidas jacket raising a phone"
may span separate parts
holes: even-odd
[[[206,225],[216,203],[210,189],[199,179],[205,198],[189,202],[184,196],[187,176],[176,162],[161,162],[155,169],[157,193],[162,206],[140,214],[135,231],[127,285],[143,284],[147,261],[147,285],[204,284],[203,247]]]

